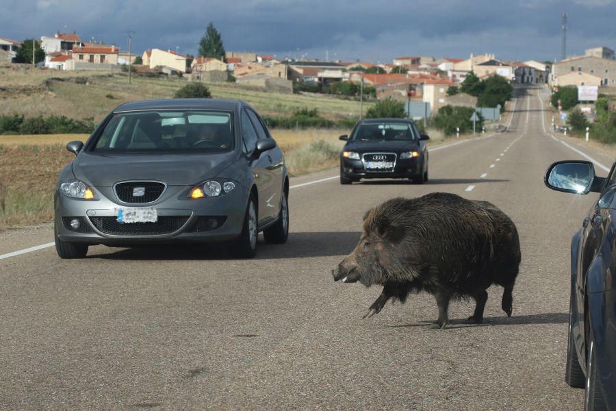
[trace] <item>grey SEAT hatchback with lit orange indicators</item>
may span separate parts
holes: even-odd
[[[286,242],[289,179],[264,121],[242,101],[169,99],[120,105],[55,187],[55,248],[229,242],[250,258],[257,234]]]

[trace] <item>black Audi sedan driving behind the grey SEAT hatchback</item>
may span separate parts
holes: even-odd
[[[362,178],[408,178],[428,181],[428,136],[405,119],[359,121],[340,153],[340,184]]]

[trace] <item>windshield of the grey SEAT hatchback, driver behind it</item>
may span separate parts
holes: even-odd
[[[230,112],[174,110],[114,114],[90,151],[204,152],[232,148]]]

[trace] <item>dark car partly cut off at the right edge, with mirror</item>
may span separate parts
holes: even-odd
[[[571,243],[571,299],[565,382],[585,388],[585,410],[616,410],[616,163],[607,178],[591,162],[556,162],[553,190],[599,198]]]

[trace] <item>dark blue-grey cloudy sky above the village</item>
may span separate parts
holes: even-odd
[[[553,60],[561,18],[569,16],[567,54],[616,47],[615,0],[3,0],[0,37],[23,40],[77,32],[133,52],[198,53],[211,21],[227,51],[283,58],[391,62],[400,55]]]

